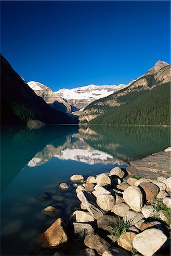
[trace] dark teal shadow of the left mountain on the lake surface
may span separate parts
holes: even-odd
[[[1,131],[1,192],[24,166],[47,144],[62,145],[78,126],[44,126],[30,130],[10,127]]]

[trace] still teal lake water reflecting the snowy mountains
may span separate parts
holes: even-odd
[[[79,202],[73,174],[108,172],[118,164],[143,158],[169,146],[163,127],[45,126],[39,130],[1,131],[1,255],[53,255],[36,237],[58,217],[69,219]],[[57,186],[68,182],[69,191]],[[56,216],[42,209],[55,205]],[[69,246],[69,245],[68,245]],[[65,255],[76,255],[71,243]]]

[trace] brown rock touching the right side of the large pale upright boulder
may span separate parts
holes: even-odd
[[[148,201],[153,201],[159,193],[159,187],[151,182],[142,182],[139,187],[143,188]]]

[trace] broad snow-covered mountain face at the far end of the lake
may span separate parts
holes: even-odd
[[[131,81],[132,82],[132,81]],[[131,83],[130,82],[130,83]],[[55,92],[56,95],[64,98],[69,104],[77,109],[84,109],[91,102],[104,98],[110,94],[117,92],[130,85],[119,84],[117,85],[87,85],[73,89],[60,89]]]

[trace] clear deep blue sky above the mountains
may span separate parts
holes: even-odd
[[[170,63],[170,2],[1,1],[1,53],[53,90],[128,83]]]

